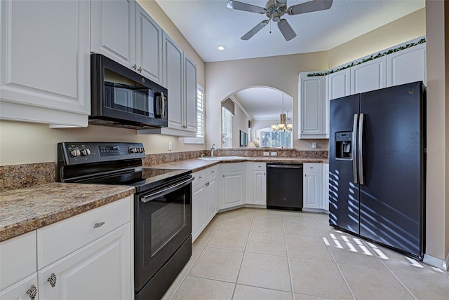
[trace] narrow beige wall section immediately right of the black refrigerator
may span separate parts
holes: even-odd
[[[427,35],[427,219],[426,253],[449,253],[449,4],[426,1]]]

